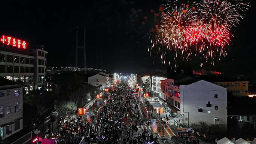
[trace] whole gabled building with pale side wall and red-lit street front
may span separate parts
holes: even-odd
[[[167,103],[181,123],[227,124],[226,88],[192,77],[162,80]]]

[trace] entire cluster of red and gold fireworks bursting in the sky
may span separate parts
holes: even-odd
[[[224,57],[236,27],[249,4],[242,0],[199,0],[187,3],[167,1],[162,8],[160,26],[150,35],[150,55],[159,53],[162,62],[168,51],[183,60],[199,56],[204,62]],[[169,60],[169,64],[171,64]],[[213,62],[211,63],[213,64]]]

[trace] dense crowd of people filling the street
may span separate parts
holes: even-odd
[[[58,138],[57,144],[147,144],[158,143],[140,120],[136,98],[131,94],[128,83],[121,82],[112,92],[107,104],[90,122],[81,116],[61,120],[59,132],[52,134]]]

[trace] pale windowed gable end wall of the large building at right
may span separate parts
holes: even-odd
[[[217,94],[218,98],[214,98],[214,94]],[[215,124],[214,118],[218,117],[219,124],[226,126],[226,88],[200,80],[190,85],[180,86],[180,99],[180,112],[185,116],[186,125],[199,123],[199,121]],[[206,107],[208,101],[210,101],[211,107]],[[218,110],[215,110],[215,105],[218,106]],[[198,112],[200,106],[202,106],[203,112]],[[208,113],[209,110],[210,113]]]

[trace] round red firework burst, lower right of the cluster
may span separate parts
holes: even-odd
[[[229,45],[230,33],[224,28],[215,28],[210,36],[210,42],[212,45],[221,46]]]

